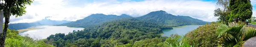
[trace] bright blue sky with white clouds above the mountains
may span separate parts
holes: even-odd
[[[251,0],[251,4],[256,6],[256,0]],[[215,0],[34,0],[26,5],[26,14],[11,16],[10,23],[31,23],[45,17],[76,21],[96,13],[139,17],[158,10],[211,22],[217,21],[218,17],[213,15],[217,8]],[[256,7],[253,16],[256,17]]]

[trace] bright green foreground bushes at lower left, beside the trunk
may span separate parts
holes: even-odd
[[[43,41],[34,40],[28,36],[22,37],[18,35],[16,30],[7,30],[5,47],[54,47]]]

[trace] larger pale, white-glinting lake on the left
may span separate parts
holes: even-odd
[[[29,34],[29,37],[32,37],[32,38],[35,37],[39,39],[46,39],[51,34],[56,34],[56,33],[68,34],[69,32],[73,32],[73,30],[81,31],[84,29],[84,28],[70,28],[67,26],[36,26],[35,28],[39,28],[39,29],[21,32],[19,33],[19,35],[24,36],[26,34]]]

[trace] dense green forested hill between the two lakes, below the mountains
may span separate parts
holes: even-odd
[[[82,31],[73,31],[67,35],[50,35],[44,42],[53,44],[56,47],[113,47],[123,44],[133,45],[134,42],[146,38],[159,38],[161,36],[160,34],[163,33],[161,28],[172,29],[172,27],[164,27],[159,23],[141,21],[136,18],[122,18],[103,23],[100,26],[87,27]]]

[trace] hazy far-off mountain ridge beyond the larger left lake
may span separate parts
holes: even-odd
[[[62,24],[62,23],[69,23],[71,21],[54,21],[54,20],[49,20],[47,19],[48,17],[46,17],[45,19],[41,20],[41,21],[36,21],[33,23],[11,23],[9,24],[8,29],[15,29],[15,30],[19,30],[19,29],[26,29],[32,26],[44,26],[44,25],[57,25],[57,24]]]

